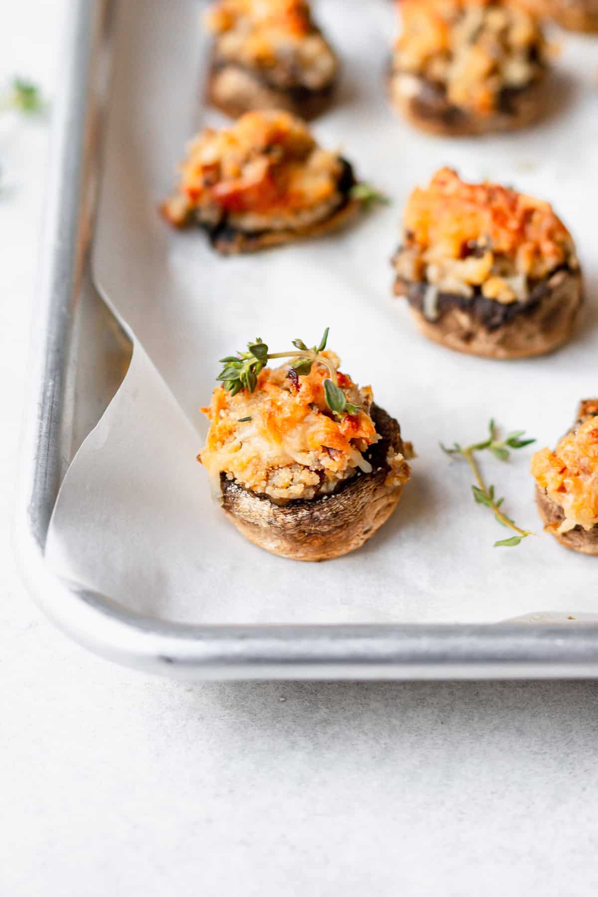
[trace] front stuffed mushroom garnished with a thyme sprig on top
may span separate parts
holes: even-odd
[[[227,517],[250,542],[296,561],[359,548],[385,523],[410,477],[399,424],[300,340],[269,353],[260,340],[225,365],[198,460]],[[281,367],[265,367],[287,357]]]

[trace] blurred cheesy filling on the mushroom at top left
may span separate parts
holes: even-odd
[[[216,58],[260,74],[273,87],[323,90],[337,61],[305,0],[219,0],[206,15]]]

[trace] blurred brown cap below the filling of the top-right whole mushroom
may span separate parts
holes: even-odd
[[[467,137],[491,134],[497,131],[513,131],[533,124],[542,117],[545,107],[544,84],[537,81],[517,93],[510,102],[509,112],[497,112],[492,116],[478,117],[464,110],[456,118],[435,116],[421,100],[402,97],[393,91],[395,109],[413,126],[426,134],[444,137]]]

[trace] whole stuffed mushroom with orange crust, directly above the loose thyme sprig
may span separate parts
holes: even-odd
[[[582,302],[573,239],[551,206],[450,169],[413,191],[393,264],[423,335],[487,358],[551,352]]]

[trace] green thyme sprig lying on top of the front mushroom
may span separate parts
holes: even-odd
[[[321,364],[330,375],[324,380],[324,395],[326,405],[334,414],[342,416],[343,414],[359,414],[360,406],[353,405],[347,401],[347,396],[338,385],[338,377],[336,368],[329,358],[322,353],[328,342],[328,331],[330,327],[326,327],[324,336],[317,345],[311,349],[300,339],[292,341],[295,347],[294,352],[273,352],[268,349],[267,344],[258,336],[254,343],[247,343],[247,352],[238,352],[236,355],[227,355],[221,358],[221,364],[224,368],[216,378],[221,380],[224,388],[230,392],[231,396],[236,396],[241,389],[248,389],[253,392],[257,386],[257,375],[264,369],[266,362],[275,358],[290,358],[289,378],[291,382],[297,384],[301,375],[310,373],[314,364]]]

